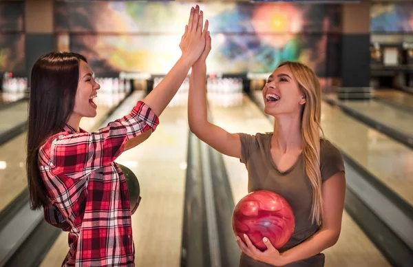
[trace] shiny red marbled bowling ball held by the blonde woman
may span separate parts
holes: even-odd
[[[271,191],[255,191],[242,197],[233,212],[233,231],[243,242],[244,233],[255,247],[264,251],[262,239],[267,237],[277,249],[282,248],[295,227],[295,217],[290,204]]]

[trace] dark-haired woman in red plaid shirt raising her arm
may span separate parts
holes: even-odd
[[[158,125],[205,46],[203,15],[191,9],[182,56],[130,114],[88,133],[83,117],[96,116],[100,85],[84,56],[53,52],[32,69],[27,173],[32,209],[69,232],[63,266],[134,266],[131,207],[125,176],[114,160],[139,145]]]

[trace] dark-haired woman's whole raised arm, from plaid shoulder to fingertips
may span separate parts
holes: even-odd
[[[189,25],[180,44],[183,47],[181,58],[162,83],[143,101],[139,101],[130,114],[94,133],[58,134],[49,138],[39,149],[42,164],[52,165],[56,173],[83,175],[112,163],[120,153],[149,138],[159,123],[158,116],[204,50],[202,23],[203,14],[197,5],[191,9]]]

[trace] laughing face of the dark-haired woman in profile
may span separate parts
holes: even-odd
[[[94,98],[100,85],[93,78],[93,72],[85,61],[79,61],[79,81],[74,100],[73,114],[78,117],[92,118],[96,116]]]

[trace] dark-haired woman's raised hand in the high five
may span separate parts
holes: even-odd
[[[191,65],[198,60],[204,51],[206,31],[202,31],[203,21],[204,12],[200,10],[200,7],[197,5],[195,8],[191,8],[189,22],[188,25],[185,26],[185,32],[179,45],[182,50],[182,56],[186,58]]]

